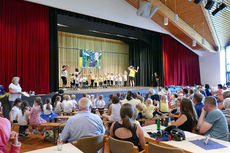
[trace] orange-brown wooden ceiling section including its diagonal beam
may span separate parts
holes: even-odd
[[[126,0],[129,4],[138,7],[138,0]],[[156,23],[161,27],[169,31],[171,34],[176,36],[182,42],[190,46],[195,50],[209,50],[217,51],[218,45],[216,39],[213,38],[208,21],[203,13],[203,10],[200,5],[196,5],[193,2],[188,0],[148,0],[153,3],[157,3],[156,6],[159,7],[157,13],[152,17]],[[159,1],[159,2],[158,2]],[[170,13],[175,12],[175,3],[176,3],[176,13],[179,15],[179,22],[174,23],[170,20]],[[163,6],[163,5],[164,6]],[[163,6],[163,7],[160,7]],[[166,7],[167,8],[166,8]],[[166,9],[165,9],[166,8]],[[170,11],[167,11],[170,9]],[[167,12],[165,12],[167,11]],[[169,15],[169,16],[167,16]],[[164,25],[164,17],[169,17],[169,24]],[[204,26],[203,23],[204,22]],[[201,43],[202,38],[206,39],[206,44]],[[197,40],[197,45],[192,46],[192,40]]]

